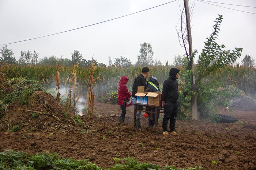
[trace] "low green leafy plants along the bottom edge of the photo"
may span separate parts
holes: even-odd
[[[138,162],[133,158],[113,158],[115,165],[109,170],[175,170],[173,166],[161,167],[159,165]],[[57,153],[40,153],[29,155],[25,152],[14,152],[6,150],[0,153],[0,169],[8,170],[35,170],[35,169],[86,169],[103,170],[88,159],[75,160],[71,158],[60,158]],[[203,169],[203,167],[188,168]]]

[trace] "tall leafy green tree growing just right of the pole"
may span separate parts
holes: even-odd
[[[214,109],[215,106],[210,106],[209,101],[207,100],[207,91],[206,87],[203,86],[202,78],[204,76],[210,75],[212,72],[219,70],[225,67],[228,64],[234,63],[237,58],[241,56],[242,48],[236,48],[232,50],[224,50],[225,46],[217,44],[215,41],[218,36],[218,31],[220,31],[220,24],[222,23],[222,15],[219,15],[219,18],[216,18],[215,25],[213,26],[214,30],[212,31],[210,37],[207,38],[207,41],[204,43],[204,49],[199,55],[198,66],[196,70],[196,84],[198,95],[198,109],[201,118],[210,118],[211,120],[215,119]],[[197,51],[193,53],[195,55]],[[212,62],[214,61],[214,62]]]

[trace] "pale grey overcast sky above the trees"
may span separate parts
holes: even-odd
[[[127,15],[171,0],[0,0],[0,44],[10,43]],[[256,0],[210,0],[215,2],[256,6]],[[192,2],[192,1],[191,1]],[[183,3],[183,0],[180,0]],[[256,8],[217,4],[256,13]],[[256,15],[195,2],[192,17],[193,49],[202,51],[212,31],[215,18],[223,15],[218,43],[227,50],[242,47],[256,59]],[[37,51],[39,58],[63,55],[71,59],[78,50],[85,59],[94,58],[108,65],[108,56],[125,56],[137,60],[140,43],[150,43],[154,59],[172,63],[175,55],[183,55],[175,25],[180,17],[178,1],[121,19],[8,45],[18,59],[20,51]]]

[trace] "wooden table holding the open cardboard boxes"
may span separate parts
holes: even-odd
[[[141,109],[137,109],[137,105],[138,106],[141,106],[142,108]],[[144,108],[145,106],[145,108]],[[155,108],[155,111],[152,112],[152,111],[146,111],[146,108]],[[133,123],[136,124],[136,112],[137,111],[145,111],[147,113],[149,113],[149,117],[151,117],[151,114],[152,113],[155,113],[155,126],[157,127],[158,125],[158,110],[160,111],[159,113],[163,113],[163,108],[161,106],[153,106],[153,105],[148,105],[148,104],[139,104],[139,103],[136,103],[134,104],[134,117],[133,117]]]

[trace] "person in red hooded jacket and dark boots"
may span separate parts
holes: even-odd
[[[121,124],[124,124],[126,107],[132,105],[132,102],[130,101],[132,94],[128,91],[128,88],[126,87],[128,80],[129,79],[126,76],[123,76],[121,77],[118,85],[118,104],[120,105],[122,110],[121,116],[119,116],[119,122]]]

